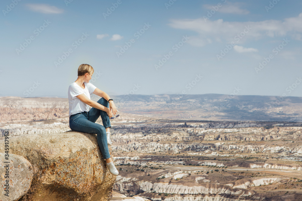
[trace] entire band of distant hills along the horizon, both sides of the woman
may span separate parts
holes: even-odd
[[[302,122],[302,97],[202,95],[111,96],[121,112],[190,121]],[[98,96],[92,96],[97,101]],[[0,97],[0,124],[68,118],[67,98]]]

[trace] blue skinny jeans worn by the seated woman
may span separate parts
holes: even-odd
[[[106,99],[101,98],[98,103],[108,107],[109,103]],[[95,121],[101,116],[103,126],[96,124]],[[83,133],[96,133],[98,146],[101,149],[104,159],[109,159],[109,149],[107,144],[106,128],[110,128],[110,118],[105,111],[97,108],[91,108],[88,112],[80,112],[69,117],[69,127],[71,130],[83,132]]]

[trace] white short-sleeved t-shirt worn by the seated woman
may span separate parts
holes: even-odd
[[[87,98],[90,99],[90,95],[94,92],[96,86],[94,86],[89,82],[88,83],[84,82],[84,85],[85,85],[85,89],[80,87],[75,82],[69,85],[68,88],[69,117],[79,112],[89,111],[89,105],[82,102],[76,96],[79,96],[80,94],[84,93],[87,96]]]

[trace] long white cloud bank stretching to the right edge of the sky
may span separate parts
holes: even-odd
[[[247,39],[261,39],[263,37],[291,36],[300,40],[302,34],[302,13],[297,17],[284,20],[264,20],[257,22],[228,22],[222,19],[211,21],[203,18],[171,20],[169,25],[175,29],[191,30],[199,33],[199,40],[213,39],[230,43],[244,43]],[[248,29],[246,29],[248,28]],[[244,32],[245,31],[245,32]],[[238,34],[242,34],[238,37]],[[236,38],[237,36],[237,38]],[[191,36],[192,37],[192,36]],[[240,38],[239,41],[236,39]],[[201,42],[199,42],[201,44]]]

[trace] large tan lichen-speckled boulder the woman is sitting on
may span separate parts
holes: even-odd
[[[112,197],[116,176],[105,165],[96,134],[27,134],[10,137],[9,147],[9,153],[24,156],[33,168],[31,187],[20,200],[104,201]]]

